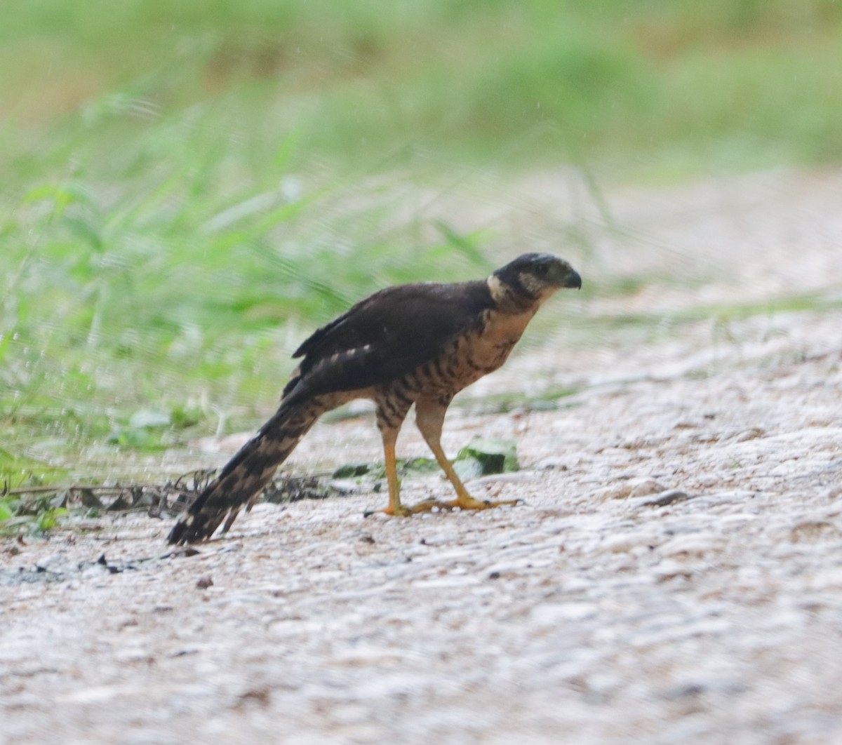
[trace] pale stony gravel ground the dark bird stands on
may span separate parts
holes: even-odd
[[[829,183],[838,201],[842,178],[781,178],[805,205]],[[667,219],[694,189],[657,218],[675,245],[715,231],[704,205]],[[716,213],[742,236],[716,244],[731,279],[758,260],[750,226],[784,220],[772,196],[751,204]],[[791,214],[765,288],[838,299],[842,226],[814,218]],[[736,293],[711,280],[683,301]],[[842,311],[720,327],[528,350],[483,383],[580,391],[558,411],[450,415],[450,452],[480,431],[517,439],[523,471],[469,485],[514,508],[261,504],[192,556],[168,555],[169,521],[144,515],[6,540],[0,742],[842,742]],[[362,418],[320,425],[297,457],[378,448]],[[402,451],[424,454],[412,428]]]

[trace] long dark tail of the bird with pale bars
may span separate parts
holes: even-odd
[[[222,520],[225,533],[246,505],[250,509],[278,466],[296,449],[307,430],[328,407],[318,398],[307,402],[281,402],[258,434],[228,461],[173,526],[168,543],[198,543],[213,535]]]

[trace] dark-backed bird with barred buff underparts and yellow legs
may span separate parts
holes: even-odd
[[[468,493],[441,447],[445,412],[456,393],[504,364],[550,295],[581,286],[578,272],[564,259],[524,253],[487,279],[396,285],[356,303],[296,349],[293,359],[301,362],[277,412],[181,514],[168,543],[208,540],[223,520],[221,533],[226,533],[317,419],[357,398],[374,402],[383,440],[389,503],[380,512],[406,517],[434,507],[514,504],[481,501]],[[401,502],[395,444],[413,404],[418,430],[456,490],[455,499]]]

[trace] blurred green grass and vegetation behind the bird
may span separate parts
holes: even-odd
[[[7,3],[0,482],[253,427],[312,328],[512,253],[426,213],[472,179],[837,164],[840,60],[834,0]]]

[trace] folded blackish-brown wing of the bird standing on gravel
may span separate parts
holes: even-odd
[[[301,344],[298,375],[285,396],[375,386],[434,359],[492,307],[483,281],[399,285],[360,301]]]

